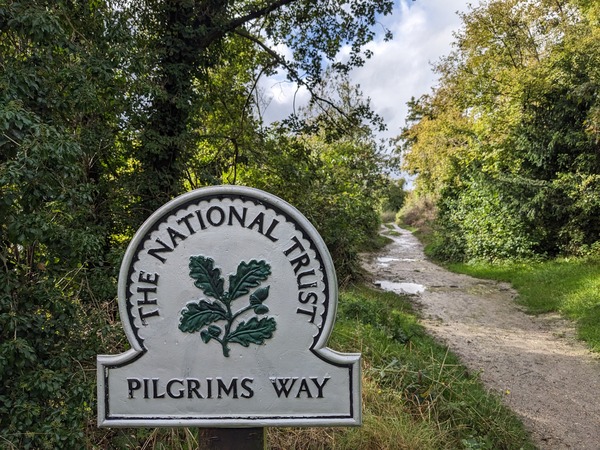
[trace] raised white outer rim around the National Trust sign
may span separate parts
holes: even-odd
[[[199,203],[202,200],[214,198],[239,198],[261,204],[267,209],[275,211],[294,224],[305,238],[314,245],[316,257],[320,262],[325,283],[325,312],[322,315],[322,325],[315,336],[310,351],[321,360],[337,367],[347,367],[349,377],[349,411],[343,415],[310,415],[306,413],[294,415],[269,415],[259,414],[254,417],[234,416],[172,416],[157,415],[147,416],[117,416],[110,412],[109,377],[110,369],[123,367],[141,358],[147,351],[143,339],[138,335],[137,329],[132,326],[133,320],[130,309],[127,307],[129,293],[127,280],[133,267],[134,259],[140,248],[143,248],[149,235],[173,211],[185,208],[187,204]],[[361,411],[361,362],[360,354],[339,353],[326,347],[335,322],[338,302],[338,285],[335,268],[331,255],[325,242],[314,226],[295,207],[279,197],[265,191],[246,186],[210,186],[183,194],[156,210],[138,229],[131,240],[119,272],[118,302],[121,322],[131,349],[119,355],[97,356],[97,391],[98,391],[98,426],[100,427],[211,427],[211,428],[250,428],[264,426],[358,426],[362,424]],[[124,318],[126,318],[124,320]]]

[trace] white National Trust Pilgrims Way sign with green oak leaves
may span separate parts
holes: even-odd
[[[326,348],[337,280],[294,207],[203,188],[156,211],[119,276],[131,349],[98,356],[99,426],[360,425],[360,355]]]

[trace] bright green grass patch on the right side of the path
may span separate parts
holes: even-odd
[[[600,260],[449,264],[455,272],[507,281],[532,314],[558,312],[575,321],[578,337],[600,351]]]

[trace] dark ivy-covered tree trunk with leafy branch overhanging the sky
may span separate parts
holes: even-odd
[[[138,221],[184,189],[185,163],[195,153],[195,124],[211,114],[214,97],[205,89],[212,72],[239,53],[234,40],[246,40],[260,51],[253,69],[287,72],[292,81],[313,90],[325,61],[345,73],[361,65],[363,47],[374,36],[377,15],[391,13],[391,0],[177,0],[131,2],[139,30],[139,48],[147,80],[145,107],[137,119],[139,142]],[[293,59],[275,49],[285,45]],[[347,61],[337,60],[350,46]],[[234,63],[235,64],[235,63]]]

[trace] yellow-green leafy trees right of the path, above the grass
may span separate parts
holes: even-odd
[[[438,256],[584,251],[600,239],[597,6],[486,1],[462,19],[399,141],[440,199]]]

